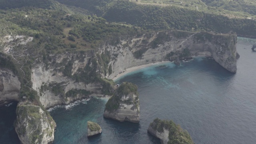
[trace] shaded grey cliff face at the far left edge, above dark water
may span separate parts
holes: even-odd
[[[0,70],[0,106],[6,101],[18,101],[20,81],[12,71]]]

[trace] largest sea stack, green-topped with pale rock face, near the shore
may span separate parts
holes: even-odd
[[[139,122],[140,104],[138,87],[130,82],[122,83],[106,103],[105,118],[112,118],[120,122]]]

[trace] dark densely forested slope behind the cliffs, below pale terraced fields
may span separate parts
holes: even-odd
[[[116,15],[118,13],[118,15]],[[200,12],[176,6],[138,5],[118,1],[103,15],[106,20],[127,22],[152,29],[178,29],[186,31],[237,32],[256,36],[256,21],[246,18],[228,18],[224,15]]]

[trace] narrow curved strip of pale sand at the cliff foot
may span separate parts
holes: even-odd
[[[156,64],[165,64],[165,63],[168,63],[168,62],[170,62],[170,61],[154,62],[154,63],[150,63],[150,64],[144,64],[144,65],[140,65],[140,66],[134,66],[134,67],[131,67],[131,68],[127,68],[126,70],[124,70],[124,72],[122,72],[121,74],[118,74],[112,80],[115,81],[116,79],[120,78],[121,76],[124,76],[124,75],[128,74],[129,72],[134,72],[134,71],[139,70],[141,68],[146,68],[148,66],[152,66],[152,65],[156,65]]]

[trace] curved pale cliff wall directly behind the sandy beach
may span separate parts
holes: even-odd
[[[190,56],[214,58],[230,72],[236,72],[236,34],[211,34],[207,32],[164,31],[145,34],[122,41],[118,46],[106,46],[111,54],[114,76],[126,68],[158,62],[176,60]]]

